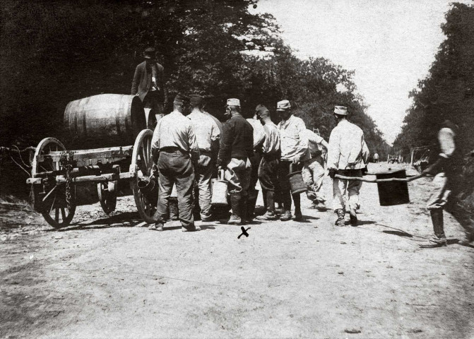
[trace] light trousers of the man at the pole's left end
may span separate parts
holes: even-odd
[[[347,177],[362,177],[362,169],[338,169],[337,174]],[[345,210],[345,203],[349,203],[349,208],[358,210],[359,191],[362,182],[357,180],[333,179],[333,210]],[[348,198],[346,198],[348,196]]]

